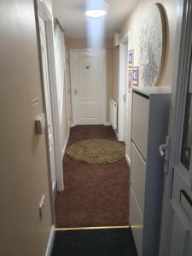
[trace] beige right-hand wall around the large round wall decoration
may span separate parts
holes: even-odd
[[[125,34],[129,32],[129,49],[134,49],[134,65],[138,65],[138,44],[139,44],[139,30],[140,19],[149,4],[156,3],[154,0],[142,0],[137,3],[135,8],[131,11],[124,26],[120,30],[120,38],[124,38]],[[163,67],[163,72],[160,77],[158,86],[172,86],[172,70],[174,58],[174,44],[177,21],[177,0],[160,0],[158,3],[163,5],[166,15],[166,59]],[[116,58],[118,60],[118,58]],[[114,63],[114,67],[117,65]],[[117,67],[115,67],[117,69]],[[119,88],[115,87],[114,83],[113,96],[117,96]],[[117,84],[118,86],[118,84]],[[127,142],[126,153],[131,156],[131,94],[128,95],[128,113],[127,113]]]

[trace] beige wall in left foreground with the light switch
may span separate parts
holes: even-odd
[[[0,14],[0,255],[40,256],[52,221],[45,135],[34,131],[44,107],[33,0],[2,0]]]

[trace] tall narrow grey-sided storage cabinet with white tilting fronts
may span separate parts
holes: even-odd
[[[164,185],[159,146],[166,142],[170,89],[133,88],[130,223],[139,256],[157,256]]]

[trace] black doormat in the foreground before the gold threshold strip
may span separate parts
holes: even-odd
[[[56,231],[52,256],[137,256],[131,229]]]

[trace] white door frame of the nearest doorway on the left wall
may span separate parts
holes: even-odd
[[[61,149],[61,135],[60,135],[60,121],[59,121],[59,111],[58,111],[58,102],[56,94],[56,79],[55,79],[55,55],[54,55],[54,28],[53,28],[53,18],[46,4],[41,0],[35,1],[35,8],[37,9],[37,20],[38,16],[44,20],[46,36],[47,36],[47,55],[48,55],[48,67],[49,67],[49,84],[50,84],[50,104],[53,120],[53,134],[54,134],[54,150],[55,150],[55,176],[56,176],[56,188],[58,191],[64,189],[63,183],[63,168],[62,168],[62,149]],[[39,23],[38,25],[38,47],[40,47],[40,34],[39,34]],[[41,60],[41,56],[40,56]],[[41,61],[40,61],[41,62]],[[43,72],[41,65],[41,72]],[[43,98],[44,96],[44,83],[43,84]],[[47,130],[47,129],[46,129]],[[48,131],[47,135],[47,149],[48,147]],[[49,152],[49,150],[48,150]],[[49,159],[49,155],[48,155]],[[49,166],[50,172],[50,166]]]

